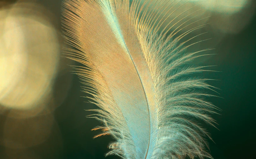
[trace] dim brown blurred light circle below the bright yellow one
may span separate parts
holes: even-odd
[[[45,142],[54,124],[53,115],[26,119],[7,118],[3,127],[3,144],[12,149],[24,149]]]

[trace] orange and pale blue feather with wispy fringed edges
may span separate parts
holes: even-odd
[[[64,37],[76,48],[66,48],[66,52],[68,58],[84,65],[74,69],[85,84],[84,91],[92,94],[92,103],[99,107],[92,110],[97,112],[92,117],[103,123],[93,130],[103,131],[96,137],[111,135],[115,139],[107,155],[129,159],[211,158],[205,141],[209,135],[199,123],[214,126],[209,114],[217,108],[205,97],[213,96],[207,90],[214,91],[215,87],[206,83],[209,79],[192,76],[207,71],[206,66],[188,64],[203,56],[199,52],[210,49],[186,51],[195,44],[186,45],[193,38],[181,39],[202,26],[180,33],[196,22],[193,18],[179,26],[172,21],[165,25],[180,8],[166,11],[167,2],[63,2]],[[182,6],[187,2],[172,0],[170,4]],[[188,15],[183,13],[189,9],[176,18],[183,16],[179,21],[184,20]]]

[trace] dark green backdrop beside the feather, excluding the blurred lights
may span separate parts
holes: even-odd
[[[61,30],[61,0],[39,1],[50,9],[57,17],[56,27]],[[220,73],[205,74],[208,78],[219,79],[213,85],[221,88],[220,96],[211,98],[217,107],[222,109],[221,115],[214,115],[219,124],[217,130],[208,127],[215,143],[210,141],[211,154],[215,159],[255,159],[256,158],[256,18],[238,34],[226,35],[214,51],[218,55],[207,62],[217,65]],[[70,73],[68,73],[70,74]],[[68,75],[57,76],[56,91],[61,91],[62,84]],[[98,121],[86,118],[91,112],[84,109],[95,108],[84,103],[86,96],[81,92],[79,80],[72,75],[72,85],[63,104],[55,110],[58,132],[51,134],[43,144],[33,147],[39,156],[45,159],[99,159],[105,158],[110,136],[96,139],[92,137],[98,132],[91,129],[99,125]],[[4,115],[1,115],[1,123]],[[1,128],[0,128],[1,130]],[[56,135],[58,134],[58,135]],[[61,134],[61,135],[59,135]],[[1,134],[0,134],[1,135]],[[61,143],[61,144],[60,144]],[[0,147],[0,150],[3,147]],[[0,156],[1,158],[1,156]],[[117,158],[109,156],[107,158]]]

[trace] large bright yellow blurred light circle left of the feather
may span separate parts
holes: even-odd
[[[59,61],[56,30],[43,14],[35,14],[40,10],[31,10],[38,6],[29,5],[1,11],[0,104],[8,108],[31,109],[44,100]]]

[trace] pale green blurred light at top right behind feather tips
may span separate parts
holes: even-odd
[[[156,1],[157,3],[155,3]],[[172,31],[184,22],[197,16],[193,20],[186,22],[183,26],[191,24],[195,20],[200,21],[182,29],[182,32],[210,22],[213,30],[225,34],[238,33],[248,25],[254,15],[255,3],[253,3],[253,0],[153,0],[149,8],[157,11],[166,8],[158,19],[159,22],[162,22],[162,17],[163,19],[167,18],[161,29],[164,29],[172,21],[169,25],[171,27],[175,24],[171,29]],[[166,14],[167,12],[168,14]],[[166,16],[163,16],[165,14]],[[187,17],[184,18],[185,16]]]

